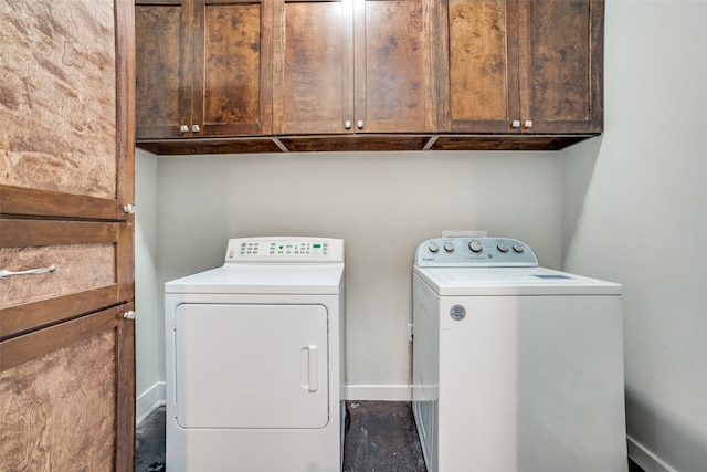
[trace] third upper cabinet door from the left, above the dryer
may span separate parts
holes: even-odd
[[[346,133],[351,128],[351,0],[276,1],[276,134]]]

